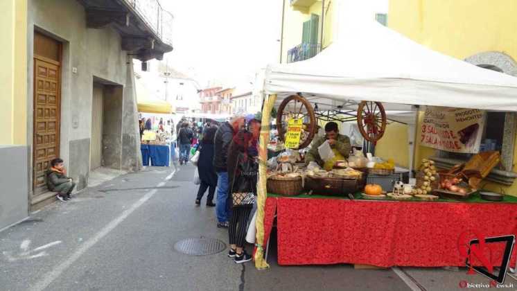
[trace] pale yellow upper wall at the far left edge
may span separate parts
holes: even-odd
[[[0,144],[27,144],[27,1],[0,1]]]

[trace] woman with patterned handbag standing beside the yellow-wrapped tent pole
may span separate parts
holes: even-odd
[[[257,124],[258,121],[252,121]],[[259,127],[260,127],[260,123]],[[240,130],[231,142],[228,152],[228,181],[233,209],[229,221],[228,236],[230,250],[228,256],[235,263],[245,263],[252,256],[244,249],[249,214],[252,212],[256,197],[256,182],[259,175],[257,158],[257,134]]]

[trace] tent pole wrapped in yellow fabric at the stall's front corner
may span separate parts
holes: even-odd
[[[264,211],[265,200],[268,197],[267,191],[267,161],[268,161],[268,141],[270,139],[270,120],[271,109],[274,101],[277,100],[277,95],[269,95],[265,100],[262,111],[262,126],[260,136],[260,150],[259,150],[259,184],[257,185],[257,202],[256,202],[256,252],[254,254],[255,267],[257,269],[268,269],[270,266],[264,259]]]

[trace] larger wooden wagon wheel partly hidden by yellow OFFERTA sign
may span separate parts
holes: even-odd
[[[285,135],[288,130],[288,120],[290,118],[303,118],[304,127],[301,130],[300,148],[305,148],[313,141],[316,133],[316,115],[314,108],[310,103],[299,95],[292,95],[284,99],[279,106],[277,114],[277,130],[279,139],[285,141]]]

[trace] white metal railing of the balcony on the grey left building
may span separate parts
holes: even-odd
[[[123,0],[128,3],[165,44],[173,45],[173,15],[158,0]]]

